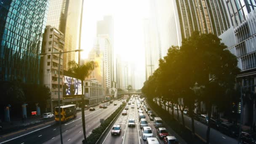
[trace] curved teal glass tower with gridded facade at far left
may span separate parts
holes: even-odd
[[[0,0],[0,80],[39,83],[48,0]]]

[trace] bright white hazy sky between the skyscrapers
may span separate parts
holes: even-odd
[[[114,54],[135,63],[135,85],[145,81],[145,50],[142,20],[149,16],[148,0],[85,0],[82,25],[82,58],[88,57],[96,37],[96,22],[104,16],[114,19]]]

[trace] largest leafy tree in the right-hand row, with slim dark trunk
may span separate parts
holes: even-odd
[[[233,89],[235,78],[240,69],[237,58],[227,50],[221,39],[213,34],[194,32],[191,37],[182,41],[181,52],[184,59],[189,59],[195,81],[203,88],[202,99],[206,104],[208,119],[212,115],[212,107],[217,104],[228,89]],[[210,125],[207,129],[209,144]]]

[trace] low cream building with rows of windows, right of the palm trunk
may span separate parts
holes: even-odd
[[[105,100],[105,90],[101,83],[97,80],[85,80],[84,83],[85,99],[89,104],[97,104]]]

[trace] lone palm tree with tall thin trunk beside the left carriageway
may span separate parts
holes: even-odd
[[[97,62],[95,61],[87,61],[85,64],[80,65],[75,61],[68,62],[69,69],[68,71],[75,74],[75,76],[82,81],[82,123],[83,123],[83,135],[84,140],[83,143],[87,143],[86,135],[85,135],[85,108],[84,108],[84,96],[83,96],[83,80],[88,77],[95,67],[98,67]]]

